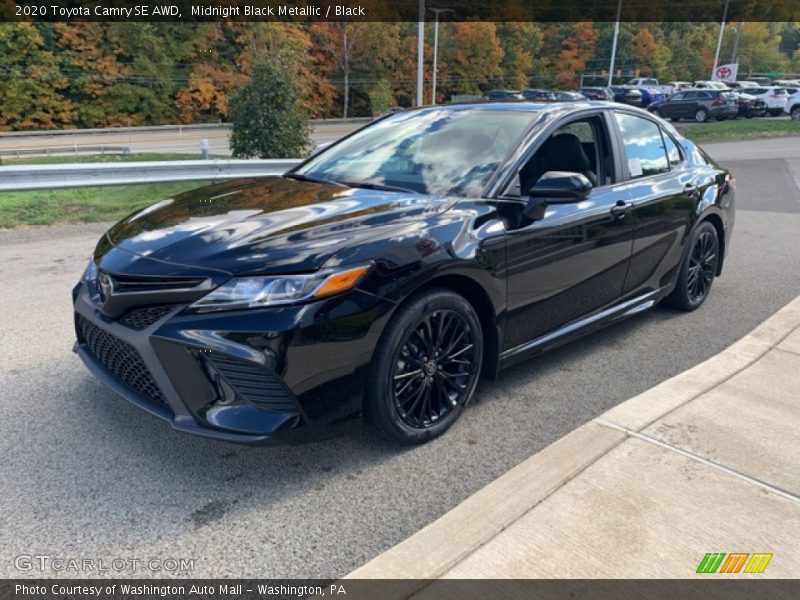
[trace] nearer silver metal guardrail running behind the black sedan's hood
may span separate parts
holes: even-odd
[[[0,166],[0,192],[283,175],[299,158]]]

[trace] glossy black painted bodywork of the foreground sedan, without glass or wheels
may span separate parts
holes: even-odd
[[[483,375],[494,377],[505,365],[667,295],[700,221],[718,230],[721,272],[734,223],[732,179],[669,125],[609,103],[479,106],[532,113],[530,131],[481,198],[265,178],[187,192],[112,227],[93,261],[119,282],[141,287],[102,303],[97,286],[82,280],[73,293],[76,320],[88,319],[135,348],[165,403],[110,373],[80,335],[76,351],[114,391],[178,430],[270,443],[322,436],[359,415],[366,371],[386,323],[426,287],[450,288],[473,304],[485,336]],[[680,165],[631,180],[610,117],[615,110],[659,123],[680,144]],[[586,117],[606,119],[611,128],[615,181],[576,201],[526,211],[528,198],[509,197],[509,182],[558,127]],[[255,310],[185,311],[234,276],[365,263],[373,265],[368,276],[338,296]],[[164,289],[161,281],[177,283]],[[130,311],[152,305],[171,308],[142,330],[125,325]],[[222,368],[229,364],[234,378],[243,373],[267,382],[283,408],[264,409],[231,393],[231,375]]]

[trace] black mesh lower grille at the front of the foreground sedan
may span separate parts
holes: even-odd
[[[81,339],[97,362],[114,377],[148,398],[166,404],[153,376],[136,349],[78,315]]]

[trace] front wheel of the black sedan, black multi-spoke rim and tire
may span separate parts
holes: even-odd
[[[483,333],[464,297],[433,288],[409,298],[375,349],[365,409],[387,438],[421,444],[444,433],[475,393]]]

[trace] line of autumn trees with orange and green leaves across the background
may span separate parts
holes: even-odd
[[[433,25],[427,25],[430,102]],[[443,22],[437,101],[493,88],[574,88],[608,67],[613,23]],[[709,77],[718,23],[623,23],[617,69]],[[416,95],[416,23],[0,24],[0,129],[226,120],[254,67],[281,57],[308,116],[366,116]],[[800,72],[800,23],[726,28],[721,63]],[[605,80],[586,83],[603,83]]]

